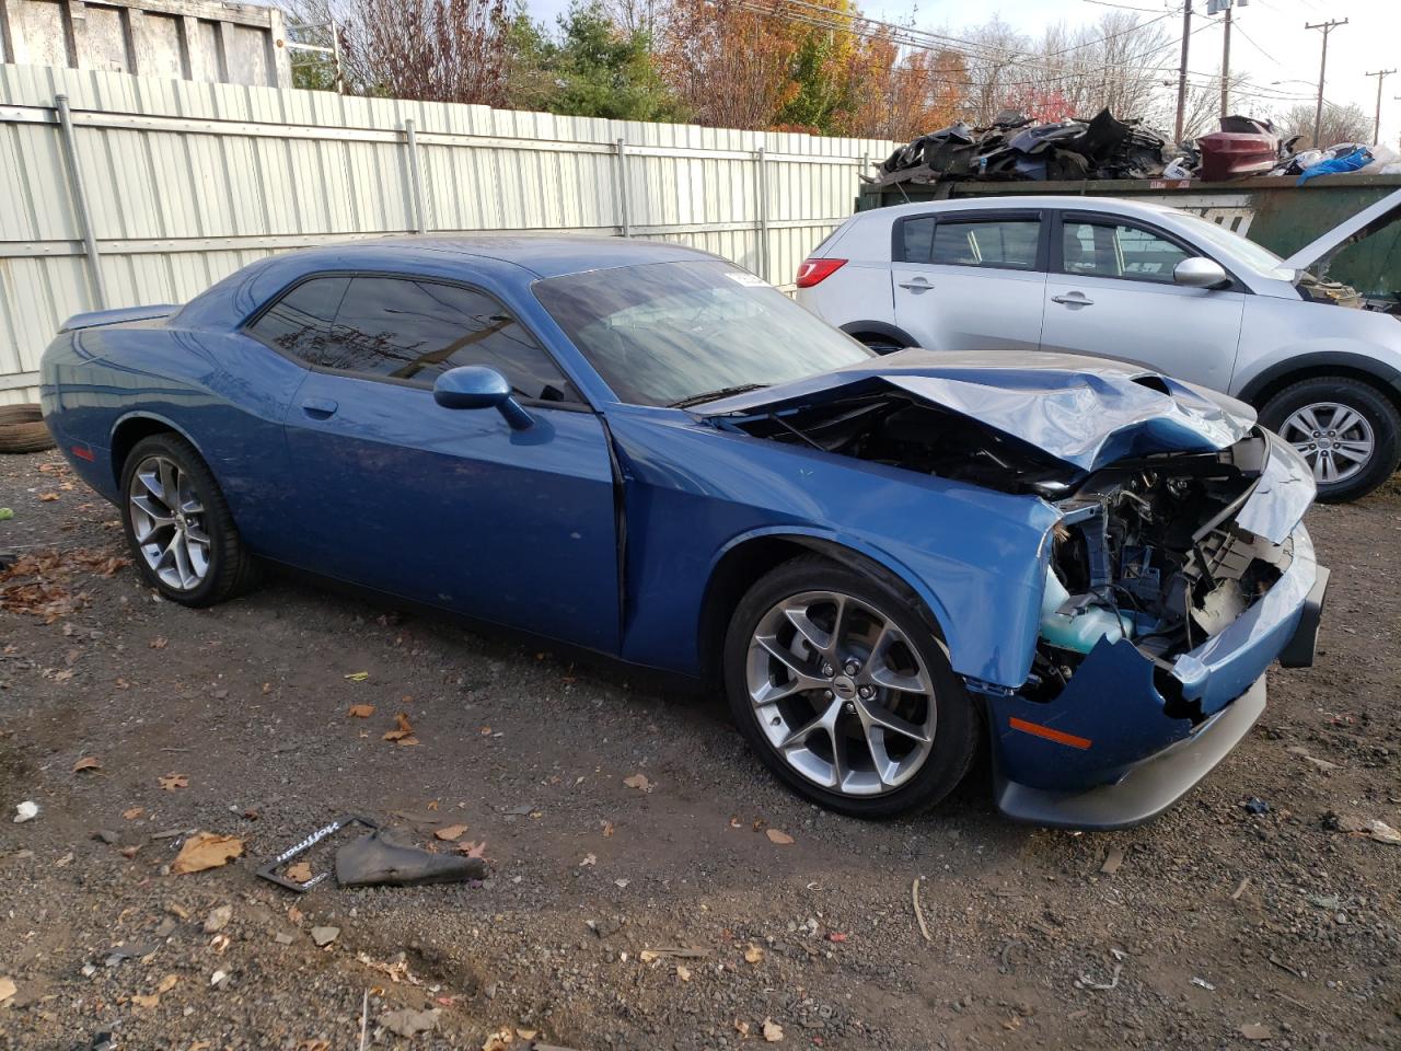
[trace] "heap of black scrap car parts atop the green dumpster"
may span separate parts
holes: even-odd
[[[915,139],[883,161],[873,181],[1150,179],[1178,153],[1142,121],[1118,121],[1108,109],[1055,123],[1007,109],[986,128],[960,121]]]

